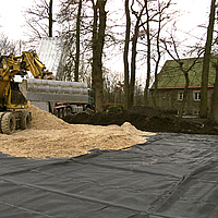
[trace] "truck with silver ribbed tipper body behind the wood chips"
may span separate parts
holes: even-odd
[[[94,109],[93,90],[87,83],[27,78],[25,93],[34,106],[58,118]]]

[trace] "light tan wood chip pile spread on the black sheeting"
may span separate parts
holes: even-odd
[[[130,123],[119,125],[68,124],[31,105],[31,129],[12,135],[0,134],[0,152],[15,157],[75,157],[88,150],[124,149],[146,141],[153,133],[136,130]]]

